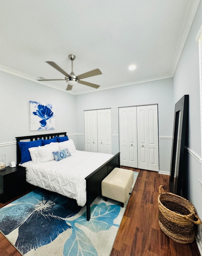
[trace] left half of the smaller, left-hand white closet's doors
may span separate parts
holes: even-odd
[[[85,151],[98,152],[97,110],[84,111]]]

